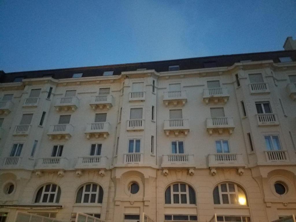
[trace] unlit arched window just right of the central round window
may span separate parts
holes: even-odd
[[[171,184],[165,190],[165,204],[196,204],[194,189],[188,184]]]

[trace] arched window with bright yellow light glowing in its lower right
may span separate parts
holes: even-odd
[[[222,183],[213,191],[214,204],[247,205],[246,194],[237,184]]]

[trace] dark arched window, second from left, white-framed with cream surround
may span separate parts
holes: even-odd
[[[75,203],[102,203],[104,191],[98,184],[84,184],[76,195]]]

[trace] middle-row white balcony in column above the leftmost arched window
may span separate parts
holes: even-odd
[[[71,124],[51,125],[47,132],[49,139],[70,139],[72,134],[73,126]]]

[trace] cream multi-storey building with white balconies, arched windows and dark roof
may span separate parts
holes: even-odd
[[[0,81],[2,221],[296,214],[295,50],[2,72]]]

